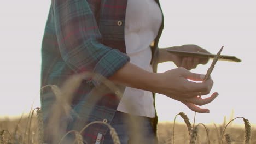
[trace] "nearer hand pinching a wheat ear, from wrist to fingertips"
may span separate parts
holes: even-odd
[[[210,93],[213,81],[210,77],[210,79],[203,82],[193,82],[202,81],[205,75],[191,73],[185,68],[168,70],[165,73],[159,73],[157,77],[158,85],[154,85],[154,91],[156,93],[164,94],[167,97],[181,101],[195,112],[210,112],[210,110],[201,109],[196,105],[211,103],[218,96],[218,93],[213,93],[211,97],[205,99],[199,97]],[[189,81],[188,79],[193,81]]]

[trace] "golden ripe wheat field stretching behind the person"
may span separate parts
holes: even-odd
[[[5,118],[0,121],[0,143],[1,144],[41,144],[42,143],[42,129],[38,127],[38,115],[34,114],[32,119],[28,116],[19,119]],[[31,123],[30,123],[31,120]],[[159,144],[164,143],[193,143],[191,142],[191,135],[189,135],[187,124],[175,123],[175,130],[173,131],[173,122],[159,122],[158,124],[158,139]],[[208,124],[205,125],[208,130],[208,136],[205,128],[200,125],[197,128],[197,136],[194,143],[221,143],[221,133],[225,128],[226,123],[222,124]],[[173,133],[174,142],[173,142]],[[251,127],[251,137],[249,143],[256,144],[256,127]],[[242,125],[231,124],[229,125],[223,137],[222,143],[246,143],[245,142],[245,127]],[[77,141],[83,139],[77,134]],[[208,140],[209,139],[209,140]],[[118,143],[116,140],[115,143]]]

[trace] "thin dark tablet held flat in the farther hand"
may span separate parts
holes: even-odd
[[[181,56],[191,56],[191,57],[206,57],[213,59],[214,54],[211,53],[203,53],[203,52],[189,52],[189,51],[179,51],[179,50],[167,50],[170,53],[174,53]],[[219,61],[229,61],[229,62],[241,62],[241,59],[235,57],[235,56],[226,56],[226,55],[220,55]]]

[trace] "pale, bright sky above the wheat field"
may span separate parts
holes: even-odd
[[[210,113],[197,114],[196,123],[222,123],[234,110],[234,118],[245,117],[256,124],[255,38],[256,1],[168,1],[162,0],[165,28],[159,47],[196,44],[211,53],[224,46],[223,55],[242,62],[218,61],[212,72],[211,93],[219,96],[202,107]],[[50,1],[4,1],[0,5],[0,117],[27,113],[32,104],[40,107],[40,46]],[[206,74],[212,61],[191,70]],[[176,68],[172,62],[159,64],[159,73]],[[207,97],[207,96],[206,96]],[[158,94],[156,109],[160,121],[173,121],[184,112],[194,112],[184,104]],[[181,119],[178,118],[178,121]],[[236,123],[242,123],[237,120]]]

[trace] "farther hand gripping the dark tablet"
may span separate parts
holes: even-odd
[[[180,56],[166,50],[179,50],[179,51],[190,51],[190,52],[203,52],[210,53],[205,49],[197,45],[182,45],[182,46],[174,46],[165,49],[160,49],[159,51],[159,63],[172,61],[176,64],[177,67],[183,67],[185,69],[191,70],[196,68],[198,64],[206,64],[209,61],[209,58],[201,58],[201,57],[189,57],[189,56]]]

